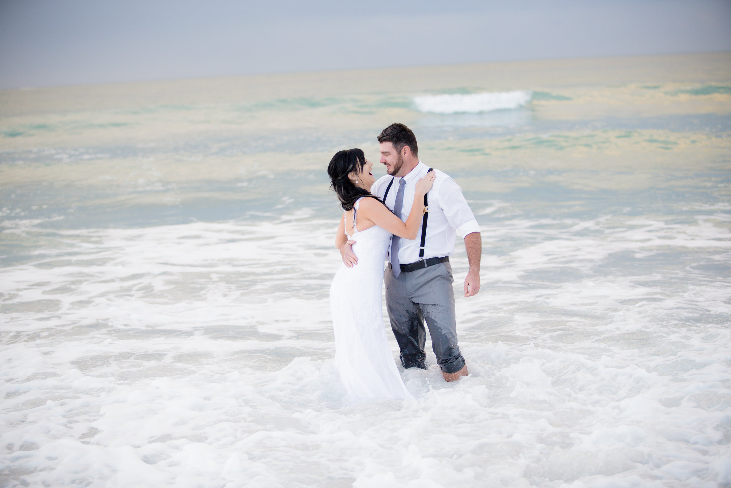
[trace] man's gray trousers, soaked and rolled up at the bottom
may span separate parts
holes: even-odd
[[[452,265],[439,263],[393,277],[388,265],[383,276],[386,284],[386,309],[391,329],[401,348],[404,368],[426,368],[424,346],[426,331],[436,362],[445,373],[458,372],[464,358],[457,345],[455,292],[452,288]]]

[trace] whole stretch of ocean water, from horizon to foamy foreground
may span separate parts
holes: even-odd
[[[0,486],[731,486],[730,67],[0,91]],[[325,168],[393,121],[482,228],[471,375],[347,405]]]

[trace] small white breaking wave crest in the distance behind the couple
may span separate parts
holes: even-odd
[[[480,113],[520,108],[531,101],[531,91],[488,91],[475,94],[423,95],[414,97],[417,110],[425,113]]]

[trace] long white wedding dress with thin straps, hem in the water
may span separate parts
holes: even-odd
[[[358,232],[359,198],[349,239],[357,265],[341,264],[330,285],[330,312],[335,330],[335,363],[351,401],[412,399],[398,374],[383,323],[383,265],[391,234],[378,225]],[[347,231],[346,231],[347,235]]]

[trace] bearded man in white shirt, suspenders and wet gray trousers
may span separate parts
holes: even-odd
[[[409,217],[416,182],[429,168],[418,157],[416,136],[404,124],[391,124],[378,136],[381,162],[387,176],[374,183],[371,192],[401,217]],[[424,346],[429,328],[431,346],[444,380],[454,381],[466,376],[467,367],[457,345],[455,298],[452,288],[450,256],[454,253],[455,232],[464,236],[469,271],[464,280],[464,296],[474,296],[480,290],[480,256],[482,239],[480,226],[474,219],[462,190],[442,171],[428,192],[428,219],[425,244],[421,252],[422,228],[417,239],[409,241],[391,238],[389,264],[384,274],[386,308],[391,329],[401,348],[404,368],[426,369]],[[347,241],[340,252],[346,266],[354,266],[357,257]]]

